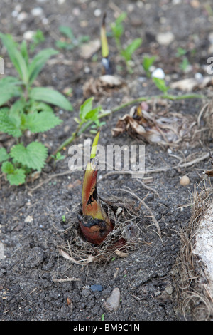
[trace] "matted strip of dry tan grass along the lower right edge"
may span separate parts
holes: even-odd
[[[204,178],[197,186],[192,201],[192,217],[185,229],[180,232],[180,255],[175,262],[175,282],[178,305],[185,319],[212,320],[213,301],[207,289],[208,279],[204,272],[205,264],[193,253],[195,236],[204,213],[212,203],[213,190]]]

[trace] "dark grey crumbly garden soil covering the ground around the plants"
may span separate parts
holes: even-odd
[[[38,139],[47,146],[51,155],[75,131],[77,123],[74,117],[78,116],[80,105],[90,96],[94,96],[94,105],[111,110],[136,98],[160,94],[152,78],[147,78],[143,70],[145,54],[156,56],[154,66],[163,69],[168,86],[183,78],[209,76],[207,58],[211,56],[213,33],[213,8],[211,10],[210,4],[210,1],[199,0],[2,0],[1,32],[10,33],[21,42],[23,36],[31,36],[29,32],[43,31],[45,41],[36,46],[34,53],[43,48],[56,48],[55,42],[62,40],[61,25],[70,26],[76,38],[87,35],[89,41],[99,40],[102,15],[106,12],[114,75],[124,81],[122,87],[86,94],[84,84],[102,74],[100,48],[92,46],[94,49],[89,49],[89,56],[85,51],[82,53],[80,45],[72,50],[58,49],[60,52],[48,61],[35,84],[53,87],[61,93],[71,92],[68,98],[73,111],[55,108],[56,115],[64,122],[46,133],[26,136],[24,143]],[[110,24],[122,11],[128,14],[123,22],[122,45],[131,43],[133,38],[143,38],[141,47],[131,60],[132,73],[126,71],[114,38],[110,36]],[[163,41],[159,33],[163,33]],[[177,55],[178,48],[187,52],[186,67],[180,66],[184,56]],[[4,76],[16,75],[3,47],[1,56],[4,58]],[[169,93],[180,95],[185,91],[171,89]],[[196,93],[210,99],[212,86],[200,91],[197,89]],[[191,98],[147,103],[156,115],[160,113],[166,117],[170,112],[179,113],[188,120],[194,118],[197,123],[206,101]],[[133,178],[121,171],[99,171],[97,192],[100,197],[134,202],[134,212],[129,212],[128,223],[136,232],[136,241],[122,254],[112,253],[109,259],[83,265],[73,262],[73,259],[79,260],[79,255],[72,253],[72,236],[73,230],[77,230],[74,224],[77,222],[84,172],[70,172],[68,149],[74,144],[82,148],[84,140],[94,138],[89,128],[62,150],[63,160],[56,164],[53,161],[47,163],[37,179],[31,178],[25,185],[15,187],[1,175],[2,321],[192,319],[190,310],[185,315],[182,313],[178,299],[179,274],[175,264],[182,242],[180,231],[187,226],[192,215],[193,192],[200,184],[203,172],[211,168],[207,155],[205,159],[202,157],[211,151],[212,138],[200,130],[194,133],[194,137],[182,138],[174,148],[172,143],[146,143],[125,132],[113,137],[111,130],[133,105],[136,103],[102,119],[105,124],[99,138],[99,144],[105,148],[107,145],[128,145],[129,148],[130,145],[145,145],[147,172],[143,178]],[[204,128],[204,123],[200,124]],[[13,144],[12,138],[1,134],[1,146],[9,149]],[[152,169],[155,171],[148,172]],[[187,185],[180,184],[183,175],[189,177]],[[60,253],[61,249],[68,259]],[[121,295],[114,310],[107,307],[106,301],[115,288]]]

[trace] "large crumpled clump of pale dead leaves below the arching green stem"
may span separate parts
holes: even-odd
[[[149,110],[143,109],[143,105],[137,105],[118,120],[116,127],[112,129],[112,135],[127,132],[133,138],[147,143],[178,147],[182,141],[192,143],[196,129],[197,122],[189,115],[180,112],[168,112],[165,115],[161,112],[160,115],[153,113],[151,105]]]

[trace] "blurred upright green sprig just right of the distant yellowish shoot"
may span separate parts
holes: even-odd
[[[121,36],[124,33],[124,26],[122,22],[126,19],[126,13],[123,12],[119,15],[119,17],[116,19],[116,21],[111,24],[111,31],[112,36],[115,39],[116,46],[119,50],[119,53],[122,58],[124,58],[124,61],[126,63],[126,67],[128,71],[131,73],[131,66],[130,61],[132,59],[133,53],[141,46],[142,39],[141,38],[135,38],[131,43],[129,43],[126,47],[123,47],[121,44]]]

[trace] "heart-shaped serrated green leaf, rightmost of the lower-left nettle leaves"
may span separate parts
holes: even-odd
[[[44,167],[47,155],[48,149],[40,142],[31,142],[27,147],[17,144],[11,148],[11,157],[15,162],[38,171]]]

